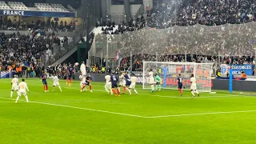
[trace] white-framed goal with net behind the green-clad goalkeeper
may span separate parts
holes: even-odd
[[[197,89],[201,92],[211,92],[211,74],[214,63],[195,62],[143,62],[143,89],[150,89],[150,69],[162,78],[163,89],[178,89],[178,74],[182,75],[185,90],[190,90],[190,76],[194,74]]]

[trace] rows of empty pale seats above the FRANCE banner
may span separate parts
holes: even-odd
[[[70,8],[73,10],[72,8]],[[62,4],[34,3],[34,7],[27,7],[22,2],[4,2],[0,1],[0,10],[36,10],[36,11],[54,11],[70,12]]]

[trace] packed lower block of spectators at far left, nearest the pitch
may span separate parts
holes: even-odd
[[[40,74],[39,69],[44,65],[42,58],[54,57],[53,46],[58,45],[59,41],[52,34],[41,36],[36,32],[31,35],[2,33],[0,35],[1,70],[15,70],[19,76],[27,74],[26,77],[33,77],[32,72]]]

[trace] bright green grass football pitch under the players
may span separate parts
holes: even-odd
[[[21,79],[19,80],[21,82]],[[0,79],[0,143],[255,143],[256,97],[234,92],[142,90],[138,95],[106,94],[104,83],[92,82],[93,93],[80,92],[79,82],[63,92],[48,80],[26,79],[30,103],[10,98],[10,79]],[[87,89],[89,89],[87,87]]]

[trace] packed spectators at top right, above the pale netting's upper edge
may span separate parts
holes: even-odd
[[[255,21],[254,0],[188,0],[166,1],[148,13],[148,26],[206,26]]]

